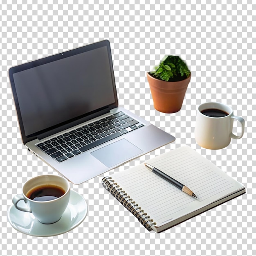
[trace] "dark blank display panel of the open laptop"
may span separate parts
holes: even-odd
[[[85,51],[79,53],[75,50],[57,54],[56,60],[51,58],[40,65],[34,61],[32,67],[13,73],[25,136],[36,135],[116,102],[107,46],[90,50],[85,46]],[[72,51],[76,54],[71,54]]]

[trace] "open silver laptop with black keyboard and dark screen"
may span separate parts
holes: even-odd
[[[74,184],[175,140],[118,106],[103,40],[9,69],[22,142]]]

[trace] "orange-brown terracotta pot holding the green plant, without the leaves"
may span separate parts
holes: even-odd
[[[191,74],[188,78],[177,82],[166,82],[156,79],[148,72],[147,78],[154,101],[154,108],[163,113],[180,111]]]

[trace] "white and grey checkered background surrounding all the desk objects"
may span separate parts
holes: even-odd
[[[252,167],[256,166],[256,5],[252,0],[208,0],[207,4],[198,0],[1,2],[2,255],[256,255],[256,175]],[[174,143],[105,175],[186,144],[245,184],[247,193],[155,234],[103,189],[104,175],[100,175],[72,185],[89,206],[81,225],[54,237],[22,234],[7,222],[12,197],[21,192],[27,179],[57,173],[22,145],[8,69],[103,39],[111,43],[120,106],[176,137]],[[175,114],[153,108],[146,80],[146,72],[165,54],[180,55],[192,72],[182,110]],[[222,150],[198,146],[194,139],[196,108],[205,101],[226,103],[235,115],[243,117],[243,138],[232,139]],[[240,128],[235,126],[234,130],[239,132]]]

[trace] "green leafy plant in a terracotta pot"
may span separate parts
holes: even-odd
[[[191,72],[180,56],[168,55],[147,72],[150,92],[156,110],[164,113],[180,111]]]

